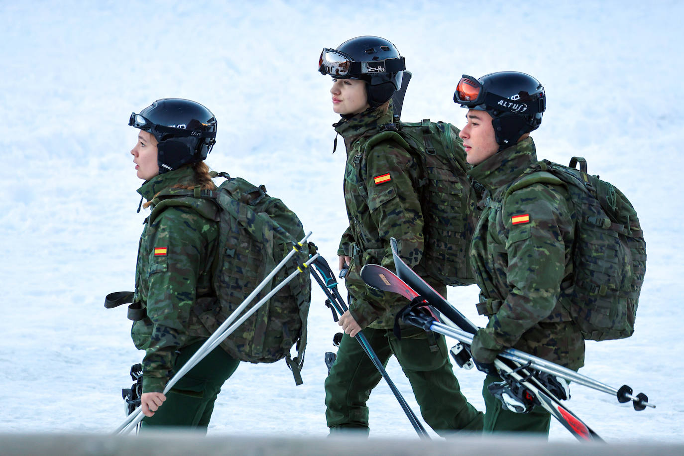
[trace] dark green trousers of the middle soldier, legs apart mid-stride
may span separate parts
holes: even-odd
[[[363,334],[383,365],[390,356],[397,357],[421,415],[434,431],[482,430],[482,412],[461,394],[444,336],[419,328],[402,332],[402,340],[392,330],[366,327]],[[348,429],[369,432],[366,402],[380,379],[382,376],[358,340],[344,334],[325,382],[326,420],[331,433]]]

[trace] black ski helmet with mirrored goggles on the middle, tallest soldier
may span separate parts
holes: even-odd
[[[378,107],[402,87],[406,62],[388,40],[379,36],[357,36],[337,49],[324,48],[318,70],[336,79],[365,81],[368,104]]]

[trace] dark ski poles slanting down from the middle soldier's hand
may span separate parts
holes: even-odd
[[[321,289],[323,289],[324,293],[326,293],[328,301],[330,301],[330,304],[334,306],[334,310],[337,310],[337,313],[340,315],[349,310],[344,302],[344,299],[342,299],[341,295],[339,294],[339,291],[337,291],[337,280],[335,280],[332,269],[330,269],[330,265],[328,265],[328,262],[325,260],[325,258],[319,256],[319,258],[313,263],[313,266],[314,268],[311,269],[311,274]],[[355,338],[358,340],[358,343],[361,345],[363,351],[365,351],[367,356],[370,358],[373,366],[376,366],[378,372],[380,372],[380,375],[382,375],[382,378],[384,378],[384,380],[387,382],[387,385],[393,392],[395,398],[399,402],[399,405],[402,407],[402,410],[404,410],[404,413],[408,417],[413,429],[415,429],[420,438],[430,439],[428,431],[425,431],[425,427],[423,427],[415,412],[411,410],[411,407],[406,402],[406,399],[404,399],[402,393],[399,392],[399,388],[397,388],[392,379],[389,377],[389,374],[382,365],[382,362],[380,362],[378,355],[376,355],[375,351],[373,351],[373,348],[368,342],[366,336],[363,334],[363,332],[359,332],[356,334]]]

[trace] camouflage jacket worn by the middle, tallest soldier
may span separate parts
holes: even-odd
[[[361,327],[393,327],[395,313],[408,304],[399,295],[369,289],[360,278],[367,263],[394,270],[391,237],[399,241],[406,263],[423,271],[423,213],[415,190],[418,163],[394,142],[378,143],[363,154],[363,144],[380,132],[380,125],[392,121],[390,105],[387,113],[366,111],[334,125],[347,149],[343,188],[350,224],[337,253],[352,257],[345,285],[353,298],[350,312]]]

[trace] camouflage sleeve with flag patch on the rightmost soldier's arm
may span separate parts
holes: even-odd
[[[478,345],[495,351],[512,347],[555,308],[570,260],[564,239],[572,239],[574,226],[566,190],[556,185],[536,183],[514,191],[501,211],[499,235],[508,266],[495,267],[505,269],[509,293],[478,334]]]

